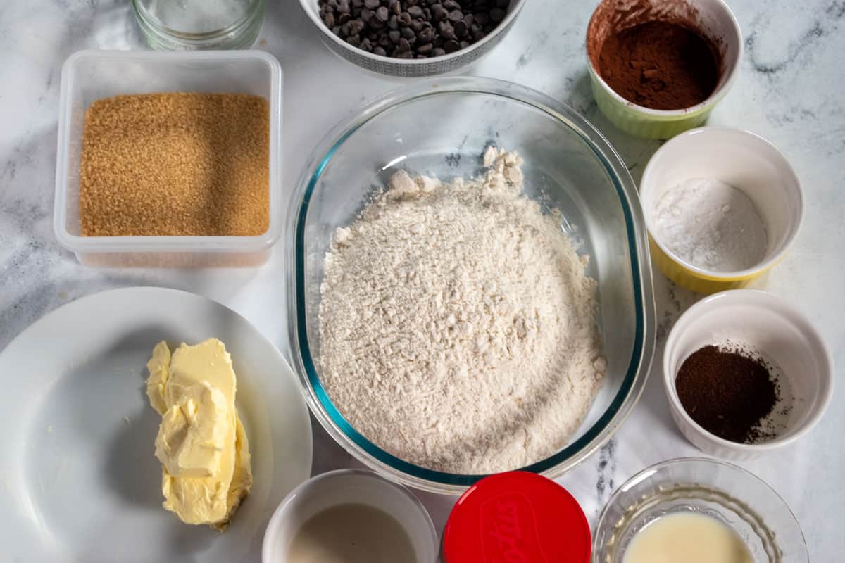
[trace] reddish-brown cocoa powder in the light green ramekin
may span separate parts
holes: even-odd
[[[714,52],[694,30],[651,21],[611,33],[602,45],[599,73],[625,100],[654,110],[681,110],[716,89]]]

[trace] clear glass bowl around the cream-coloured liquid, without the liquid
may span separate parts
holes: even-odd
[[[644,469],[613,493],[598,520],[593,563],[622,563],[642,528],[679,512],[726,524],[748,546],[755,563],[810,560],[798,521],[763,480],[731,463],[682,457]]]

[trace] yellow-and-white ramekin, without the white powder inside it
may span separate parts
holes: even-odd
[[[724,181],[751,199],[768,235],[759,263],[736,272],[698,268],[676,256],[654,234],[657,203],[666,192],[694,178]],[[665,143],[646,165],[640,198],[652,261],[675,284],[702,294],[744,287],[766,273],[784,257],[804,216],[801,185],[786,157],[755,133],[729,127],[700,127]]]

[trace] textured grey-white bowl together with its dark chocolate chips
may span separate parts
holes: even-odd
[[[526,0],[299,0],[326,46],[374,73],[450,73],[487,54]]]

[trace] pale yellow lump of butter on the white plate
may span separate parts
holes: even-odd
[[[172,354],[162,341],[147,369],[150,405],[161,414],[155,457],[163,506],[183,522],[222,532],[252,487],[232,357],[217,338],[182,344]]]

